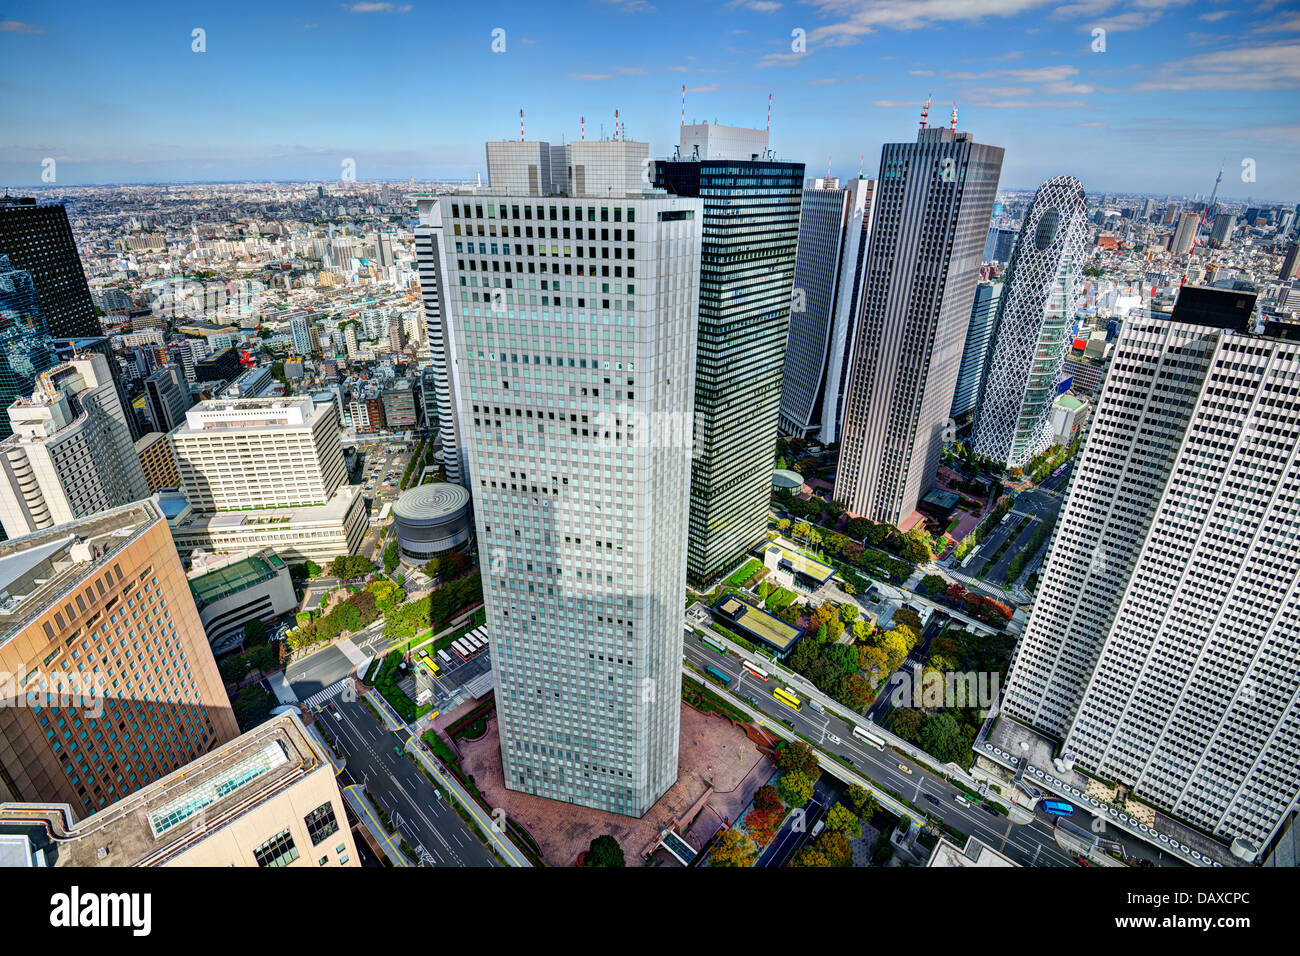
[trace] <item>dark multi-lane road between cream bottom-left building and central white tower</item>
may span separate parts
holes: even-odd
[[[369,791],[426,865],[500,865],[447,804],[447,795],[439,797],[411,757],[394,752],[406,744],[406,735],[384,730],[364,700],[335,697],[318,721],[347,760],[343,775]]]

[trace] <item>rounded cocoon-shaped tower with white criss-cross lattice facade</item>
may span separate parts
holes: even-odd
[[[1052,403],[1079,300],[1086,213],[1083,183],[1072,176],[1044,182],[1006,269],[975,412],[975,451],[1009,468],[1023,468],[1054,441]]]

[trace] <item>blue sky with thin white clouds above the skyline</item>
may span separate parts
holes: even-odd
[[[205,31],[205,52],[192,31]],[[504,52],[493,52],[493,31]],[[805,49],[796,51],[801,30]],[[1095,31],[1104,30],[1104,49]],[[0,7],[0,185],[472,177],[486,139],[686,117],[762,126],[809,173],[874,174],[933,122],[1005,187],[1300,200],[1300,4],[1274,0],[29,3]],[[1254,182],[1242,181],[1253,160]]]

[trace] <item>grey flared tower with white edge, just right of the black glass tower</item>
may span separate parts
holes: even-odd
[[[840,440],[876,183],[853,179],[838,189],[824,182],[803,190],[800,211],[780,429],[832,444]]]

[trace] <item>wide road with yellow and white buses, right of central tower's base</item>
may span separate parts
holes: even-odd
[[[763,683],[748,672],[741,676],[744,669],[734,654],[723,657],[696,636],[685,637],[684,653],[686,661],[699,670],[712,666],[728,674],[732,678],[732,693],[749,701],[767,717],[790,726],[826,753],[844,757],[858,774],[884,790],[898,793],[905,803],[916,808],[918,814],[942,819],[963,834],[978,836],[1022,866],[1075,865],[1057,847],[1052,829],[1045,823],[1035,821],[1017,825],[1002,814],[958,804],[957,797],[963,795],[957,787],[940,777],[933,777],[893,749],[881,752],[868,747],[854,737],[853,727],[838,717],[812,710],[807,700],[803,701],[802,710],[793,710],[781,704],[772,696],[772,691],[780,687],[777,680],[772,678]],[[798,692],[797,696],[805,697]],[[829,735],[835,735],[835,739]],[[900,765],[911,773],[901,770]]]

